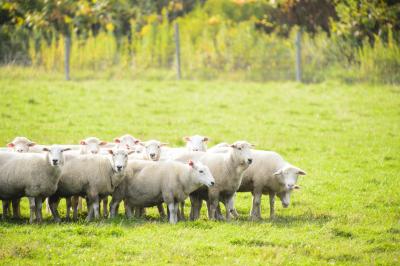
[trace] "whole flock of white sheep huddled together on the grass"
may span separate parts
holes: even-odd
[[[0,150],[3,217],[11,215],[12,205],[13,216],[20,218],[21,197],[28,197],[31,223],[42,221],[45,200],[59,222],[58,203],[65,198],[67,220],[71,210],[77,219],[82,199],[86,199],[88,221],[100,217],[101,205],[104,217],[115,217],[123,202],[128,218],[157,206],[161,217],[168,216],[170,223],[176,223],[185,219],[184,201],[190,197],[191,220],[199,218],[203,200],[209,219],[229,220],[238,216],[236,193],[251,192],[251,219],[256,220],[261,218],[263,194],[269,195],[273,217],[275,196],[288,207],[292,190],[298,188],[297,177],[306,174],[276,152],[252,149],[246,141],[207,149],[207,137],[184,140],[186,147],[181,148],[157,140],[142,142],[131,135],[115,138],[113,143],[90,137],[79,145],[48,146],[16,137]]]

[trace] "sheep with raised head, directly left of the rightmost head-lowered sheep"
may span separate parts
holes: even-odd
[[[246,141],[237,141],[230,145],[227,153],[192,152],[176,158],[178,161],[188,159],[201,161],[210,168],[215,178],[215,186],[212,188],[203,187],[190,194],[191,220],[199,218],[202,200],[207,201],[210,219],[216,219],[216,208],[219,201],[222,201],[228,207],[231,197],[240,186],[243,172],[253,161],[250,150],[252,146]],[[228,211],[226,219],[230,219]]]

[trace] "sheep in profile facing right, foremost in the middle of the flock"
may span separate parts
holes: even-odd
[[[162,202],[168,206],[169,222],[178,221],[178,204],[200,186],[213,186],[209,168],[200,162],[183,164],[175,161],[148,162],[132,160],[126,178],[114,191],[111,201],[111,217],[121,200],[127,202],[127,217],[132,216],[132,207],[151,207]]]

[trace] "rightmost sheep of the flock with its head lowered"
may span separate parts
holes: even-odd
[[[250,212],[252,220],[261,219],[261,196],[269,195],[270,218],[275,217],[275,196],[282,201],[282,206],[287,208],[290,204],[290,194],[296,185],[299,175],[306,172],[286,162],[281,155],[272,151],[253,150],[254,161],[244,171],[242,183],[238,192],[251,192],[253,205]],[[237,217],[234,208],[234,198],[228,203],[228,209]],[[220,210],[219,210],[220,212]]]

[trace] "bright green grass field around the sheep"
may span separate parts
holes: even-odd
[[[131,133],[182,145],[246,139],[303,168],[300,191],[277,218],[169,225],[155,209],[143,220],[43,225],[0,222],[0,264],[384,264],[400,263],[400,87],[197,81],[62,81],[0,70],[0,145],[112,140]],[[64,210],[63,207],[60,207]]]

